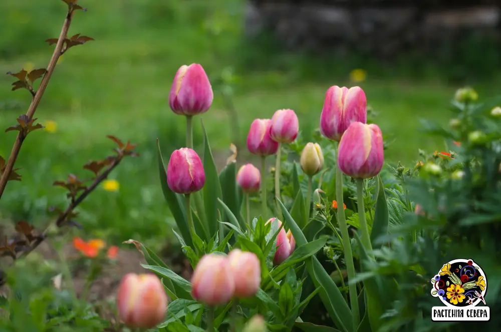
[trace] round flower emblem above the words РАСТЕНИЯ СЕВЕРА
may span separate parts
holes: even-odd
[[[485,305],[487,278],[471,259],[454,259],[445,263],[431,279],[431,295],[446,306]]]

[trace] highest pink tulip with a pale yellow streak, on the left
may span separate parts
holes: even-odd
[[[169,106],[180,115],[197,115],[207,112],[212,105],[212,87],[202,66],[181,66],[174,77],[169,93]]]

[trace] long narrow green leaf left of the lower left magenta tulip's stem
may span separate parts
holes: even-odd
[[[176,221],[177,228],[181,232],[184,241],[192,246],[191,234],[186,222],[186,209],[184,208],[184,197],[178,193],[170,190],[167,185],[167,172],[165,170],[165,164],[162,158],[162,152],[160,151],[160,143],[157,138],[157,149],[158,149],[158,171],[160,174],[160,184],[162,185],[163,196],[169,205],[170,212]]]

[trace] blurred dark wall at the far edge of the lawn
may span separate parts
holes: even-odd
[[[347,0],[330,3],[249,2],[245,31],[248,36],[268,31],[290,50],[357,49],[383,58],[410,49],[434,49],[471,32],[501,41],[499,5],[478,6],[480,2],[476,2],[475,7],[449,8],[438,6],[437,1],[435,7],[412,1],[382,1],[377,7],[360,2],[347,6]]]

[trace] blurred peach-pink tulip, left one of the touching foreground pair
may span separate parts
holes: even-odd
[[[196,264],[191,283],[194,299],[208,305],[226,304],[235,291],[228,257],[214,253],[204,255]]]

